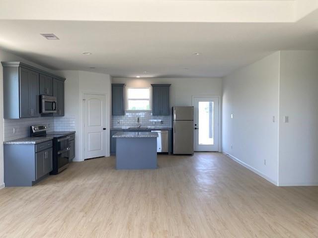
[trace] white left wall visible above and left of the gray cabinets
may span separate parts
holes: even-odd
[[[32,65],[34,67],[41,68],[43,70],[56,73],[48,68],[45,68],[41,65],[35,64],[33,62],[30,62],[28,60],[25,60],[19,56],[13,55],[9,52],[6,52],[4,50],[0,49],[0,61],[22,61],[24,63],[27,63],[29,65]],[[58,73],[57,73],[58,74]],[[2,65],[0,65],[0,120],[1,120],[1,126],[0,126],[0,188],[3,187],[4,182],[4,175],[3,175],[3,139],[4,139],[4,125],[3,125],[3,70]]]

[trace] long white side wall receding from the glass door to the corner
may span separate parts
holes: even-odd
[[[278,119],[279,57],[274,53],[225,77],[222,110],[223,152],[275,184],[278,122],[273,116]]]

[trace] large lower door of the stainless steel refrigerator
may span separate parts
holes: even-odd
[[[193,120],[174,120],[173,154],[193,154]]]

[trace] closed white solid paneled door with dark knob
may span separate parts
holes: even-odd
[[[106,155],[106,96],[84,94],[84,159]]]

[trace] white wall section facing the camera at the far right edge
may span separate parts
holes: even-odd
[[[318,52],[282,51],[279,185],[318,185],[317,144]]]

